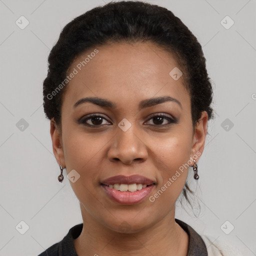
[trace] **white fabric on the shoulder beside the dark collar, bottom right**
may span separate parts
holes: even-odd
[[[206,247],[208,256],[243,256],[235,246],[224,239],[215,239],[209,235],[201,235]]]

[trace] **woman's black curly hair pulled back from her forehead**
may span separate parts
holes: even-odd
[[[174,54],[190,94],[193,127],[204,110],[208,119],[212,118],[212,87],[202,47],[192,32],[164,7],[141,1],[118,1],[90,9],[71,20],[49,53],[43,107],[46,117],[54,118],[60,130],[62,98],[68,86],[68,83],[63,86],[63,81],[72,61],[97,45],[121,41],[148,41]],[[187,199],[186,191],[191,192],[187,183],[183,189]]]

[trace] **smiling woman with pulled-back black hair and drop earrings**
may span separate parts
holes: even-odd
[[[83,223],[40,255],[227,255],[174,217],[212,118],[205,58],[181,20],[110,2],[69,22],[48,62],[58,180],[66,168]]]

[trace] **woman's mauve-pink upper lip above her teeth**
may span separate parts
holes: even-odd
[[[154,183],[154,181],[147,177],[136,175],[136,174],[130,175],[130,176],[124,176],[124,175],[112,176],[101,181],[101,184],[104,184],[104,185],[134,184],[134,183],[151,185]]]

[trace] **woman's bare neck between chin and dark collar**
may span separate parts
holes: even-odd
[[[113,231],[82,210],[83,228],[74,240],[78,256],[102,254],[104,256],[175,255],[186,256],[187,233],[175,222],[174,211],[161,221],[135,233]]]

